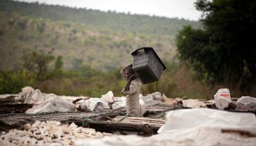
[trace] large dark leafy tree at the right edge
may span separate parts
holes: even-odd
[[[184,26],[176,36],[179,58],[208,83],[256,81],[256,1],[198,0],[202,28]]]

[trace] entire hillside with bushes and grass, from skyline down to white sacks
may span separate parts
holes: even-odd
[[[121,95],[120,68],[143,46],[153,47],[167,66],[143,94],[205,98],[215,92],[176,57],[177,32],[199,22],[7,0],[0,1],[0,19],[1,94],[29,85],[58,95]]]

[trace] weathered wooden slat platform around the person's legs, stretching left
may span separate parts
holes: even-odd
[[[156,116],[163,116],[166,111],[173,110],[175,107],[166,104],[153,105],[150,107],[146,107],[149,110],[151,118],[127,118],[124,120],[124,123],[121,128],[117,128],[117,123],[111,124],[111,126],[107,126],[106,123],[98,123],[103,126],[103,129],[109,130],[109,128],[117,128],[119,130],[126,129],[127,131],[143,131],[140,129],[132,128],[129,125],[134,125],[134,123],[138,123],[139,127],[143,127],[143,125],[150,126],[154,132],[163,124],[161,120],[155,119]],[[93,121],[105,121],[109,120],[106,116],[110,118],[114,118],[116,116],[126,115],[126,109],[119,109],[114,112],[105,112],[105,113],[96,113],[96,112],[65,112],[65,113],[44,113],[44,114],[36,114],[36,115],[27,115],[25,113],[6,113],[0,114],[0,131],[3,129],[12,129],[12,128],[22,128],[23,124],[30,123],[33,124],[36,120],[39,121],[60,121],[61,123],[72,123],[78,124],[82,126],[82,122],[85,118],[90,118]],[[111,121],[108,121],[111,122]],[[115,122],[115,121],[113,121]],[[91,123],[96,124],[96,123]],[[101,128],[102,129],[102,128]],[[112,129],[113,130],[113,129]],[[148,129],[146,130],[148,131]],[[144,131],[145,132],[145,131]],[[145,132],[147,133],[147,132]],[[150,132],[148,132],[150,133]]]

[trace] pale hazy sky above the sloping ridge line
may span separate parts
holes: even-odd
[[[194,7],[196,0],[19,0],[26,2],[45,2],[69,7],[87,9],[116,10],[130,14],[147,14],[164,17],[178,17],[198,20],[201,13]]]

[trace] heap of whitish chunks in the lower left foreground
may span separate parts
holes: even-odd
[[[61,124],[58,121],[35,121],[25,124],[24,130],[11,129],[2,132],[0,145],[74,145],[74,141],[90,137],[103,137],[95,129],[78,127],[72,123]]]

